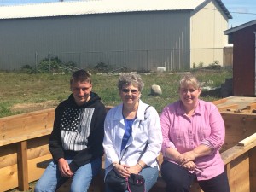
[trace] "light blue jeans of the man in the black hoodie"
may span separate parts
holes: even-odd
[[[67,160],[68,163],[71,160]],[[92,177],[96,176],[102,167],[102,159],[97,158],[74,172],[70,192],[86,192],[90,187]],[[42,177],[35,186],[35,192],[54,192],[61,187],[61,184],[67,181],[67,177],[61,177],[58,165],[50,162]]]

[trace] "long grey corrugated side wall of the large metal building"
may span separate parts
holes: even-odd
[[[3,70],[36,65],[49,54],[78,67],[103,61],[135,70],[189,69],[186,12],[0,20],[0,25]]]

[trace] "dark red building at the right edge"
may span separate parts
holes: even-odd
[[[256,20],[224,31],[233,48],[233,94],[256,96]]]

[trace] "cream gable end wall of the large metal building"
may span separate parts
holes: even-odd
[[[224,64],[224,45],[227,36],[228,19],[219,11],[217,3],[207,3],[191,16],[191,59],[190,67],[203,63],[204,67],[218,61]]]

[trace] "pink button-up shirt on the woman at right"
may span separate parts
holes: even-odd
[[[212,148],[212,154],[195,160],[198,180],[207,180],[224,172],[224,162],[219,149],[224,143],[225,128],[218,108],[211,102],[198,101],[195,112],[189,118],[183,110],[181,101],[166,106],[160,115],[163,134],[162,154],[166,158],[167,148],[176,148],[181,154],[193,150],[200,144]]]

